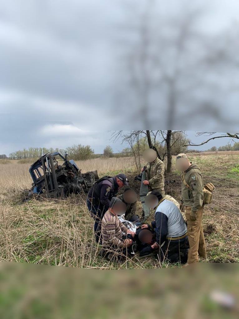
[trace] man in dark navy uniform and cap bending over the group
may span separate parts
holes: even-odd
[[[86,204],[91,217],[95,219],[96,242],[101,243],[101,219],[109,208],[110,200],[124,186],[128,186],[128,180],[126,175],[121,173],[115,177],[100,178],[89,190]]]

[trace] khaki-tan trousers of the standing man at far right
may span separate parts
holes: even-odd
[[[186,206],[186,218],[188,224],[189,254],[188,263],[198,263],[198,255],[206,258],[206,246],[203,234],[202,216],[203,208],[197,211],[197,220],[190,219],[191,206]]]

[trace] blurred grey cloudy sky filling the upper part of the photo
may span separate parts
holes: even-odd
[[[140,54],[137,56],[137,30],[148,3],[156,4],[150,19],[150,39],[155,39],[155,46],[157,41],[162,41],[161,47],[157,47],[156,58],[163,57],[163,64],[170,69],[175,59],[170,56],[169,44],[177,36],[177,26],[169,27],[168,23],[170,19],[175,23],[182,19],[185,8],[189,7],[182,7],[178,0],[162,1],[160,5],[157,1],[148,0],[9,0],[2,4],[0,112],[15,114],[19,119],[12,131],[11,125],[4,126],[5,131],[9,128],[9,143],[16,140],[12,134],[16,130],[20,132],[21,139],[27,138],[27,128],[34,130],[32,123],[38,117],[42,123],[63,120],[84,130],[169,129],[167,86],[157,83],[150,105],[144,111],[143,90],[135,96],[132,83],[128,81],[129,67],[142,57]],[[206,0],[194,3],[188,1],[190,6],[202,7],[205,11],[195,26],[196,30],[210,34],[212,39],[216,39],[212,41],[213,45],[218,45],[224,28],[229,30],[236,19],[239,4],[231,0],[220,1],[220,4],[216,0],[210,1],[210,4]],[[196,74],[190,63],[194,62],[194,53],[203,55],[204,52],[200,51],[201,38],[196,36],[193,39],[190,54],[182,59],[187,72],[178,88],[190,85],[196,75],[203,78],[204,87],[198,85],[194,92],[189,89],[179,100],[174,112],[174,125],[178,127],[173,129],[235,129],[239,98],[237,75],[233,75],[235,89],[231,92],[225,84],[232,78],[232,68],[224,70],[223,65],[216,67],[215,87],[212,86],[212,78],[202,77],[202,73],[207,74],[208,70],[203,69],[200,63]],[[228,56],[238,51],[235,39],[234,35],[228,46]],[[226,43],[223,43],[223,48]],[[125,66],[129,52],[132,63]],[[150,81],[154,81],[156,71],[151,70]],[[4,93],[10,97],[4,98]],[[209,107],[211,113],[207,116],[204,111]],[[27,122],[30,124],[24,124]],[[36,127],[38,129],[38,124]]]

